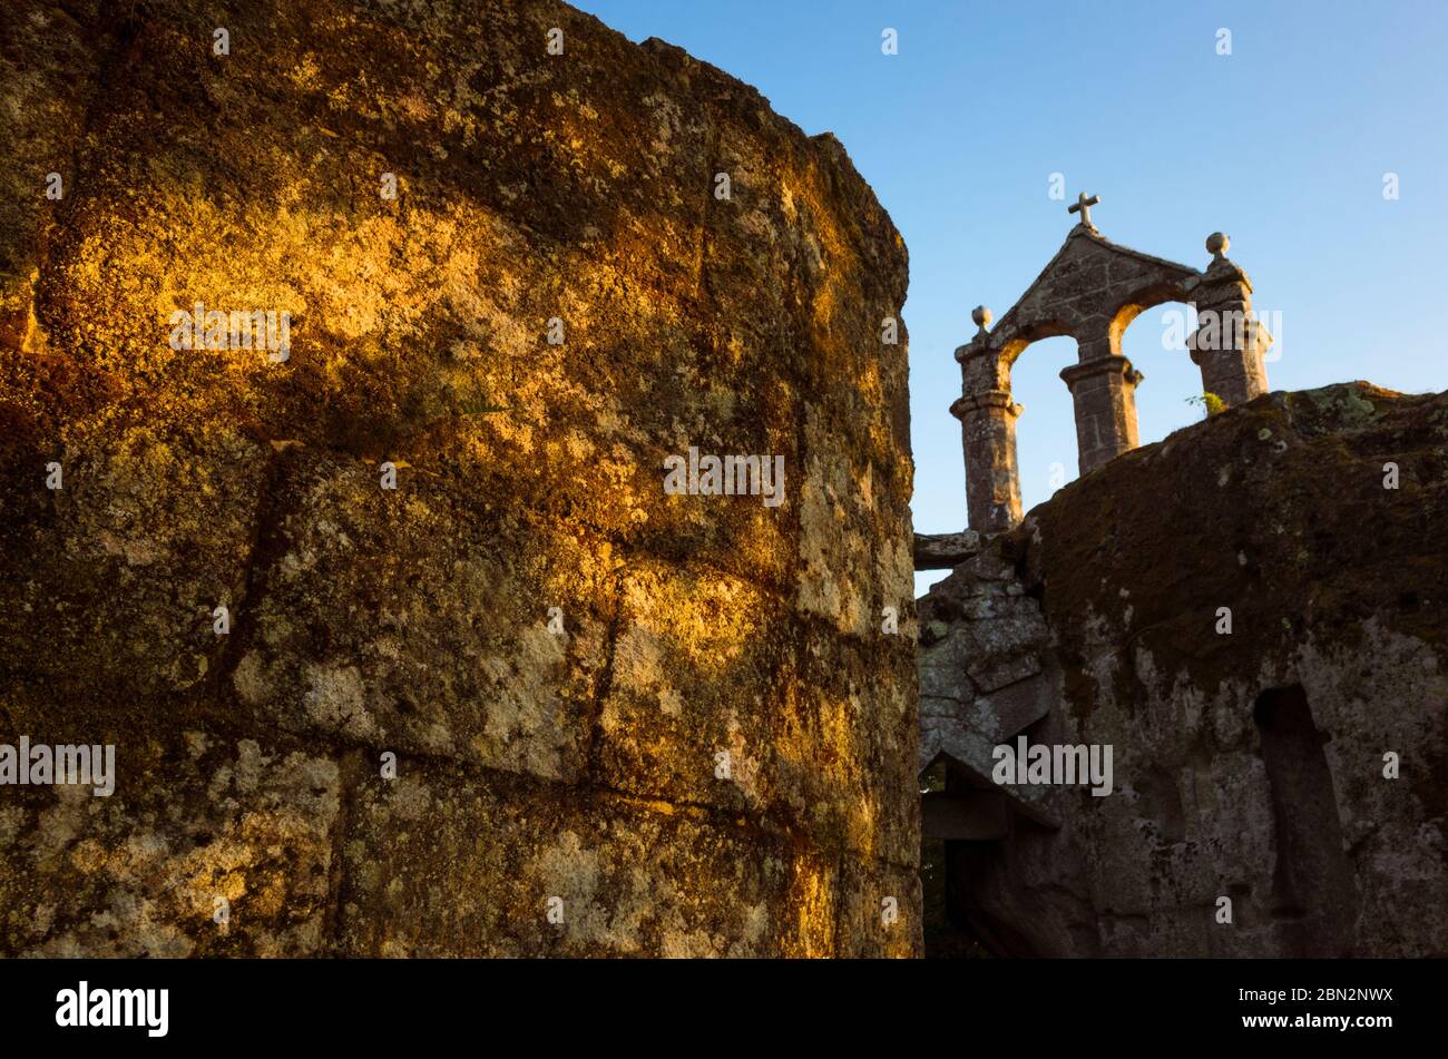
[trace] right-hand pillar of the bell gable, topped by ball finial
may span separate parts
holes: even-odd
[[[1208,236],[1212,263],[1196,289],[1197,330],[1187,349],[1202,369],[1203,392],[1239,405],[1267,392],[1263,356],[1271,334],[1253,318],[1253,282],[1224,256],[1228,246],[1221,231]]]

